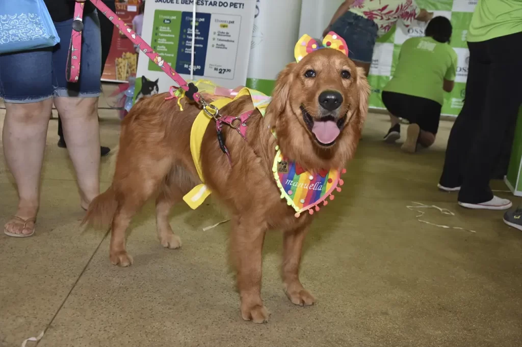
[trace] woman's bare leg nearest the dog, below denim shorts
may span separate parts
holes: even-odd
[[[81,207],[100,194],[98,97],[56,97],[67,150],[76,171]]]

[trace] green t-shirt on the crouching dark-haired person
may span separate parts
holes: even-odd
[[[384,91],[424,97],[444,103],[444,79],[454,81],[457,53],[430,37],[411,38],[400,48],[393,78]]]

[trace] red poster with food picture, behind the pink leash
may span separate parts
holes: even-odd
[[[116,15],[130,28],[132,28],[132,20],[138,15],[140,3],[141,0],[116,0]],[[111,49],[101,80],[126,82],[129,77],[136,76],[137,63],[138,54],[135,52],[134,44],[118,28],[114,27]]]

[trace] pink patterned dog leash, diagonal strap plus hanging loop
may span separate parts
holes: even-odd
[[[123,34],[125,36],[127,36],[127,38],[129,40],[131,40],[135,45],[137,45],[139,47],[139,49],[141,49],[141,51],[143,51],[143,53],[145,53],[150,58],[150,60],[154,61],[154,63],[156,65],[158,65],[165,73],[167,73],[167,75],[170,78],[172,78],[174,80],[174,82],[176,82],[176,84],[180,86],[180,88],[185,90],[187,92],[185,94],[185,95],[187,95],[187,97],[192,98],[195,102],[199,102],[201,100],[201,96],[199,95],[199,93],[197,92],[197,89],[193,86],[193,84],[190,84],[190,85],[187,84],[187,82],[180,75],[178,75],[177,72],[174,71],[174,69],[169,64],[165,63],[165,60],[163,60],[163,58],[158,53],[154,52],[152,50],[152,48],[143,39],[141,39],[140,36],[134,32],[134,30],[132,30],[132,28],[129,28],[123,20],[118,18],[118,16],[116,16],[116,14],[113,11],[111,11],[111,9],[109,7],[107,7],[102,2],[102,0],[90,0],[90,2],[96,8],[98,8],[98,10],[101,11],[101,13],[105,17],[107,17],[114,24],[114,26],[116,26],[116,28],[120,29],[123,32]],[[83,13],[83,11],[84,11],[84,3],[76,3],[75,10],[74,10],[75,19],[76,19],[77,13],[80,13],[80,19],[81,19],[81,13]],[[74,29],[74,22],[73,22],[73,29]],[[73,31],[73,39],[75,38],[75,31],[76,30]],[[78,33],[78,36],[80,39],[80,47],[81,47],[81,31],[77,32],[77,33]],[[78,41],[78,39],[76,39],[76,41]],[[71,40],[71,47],[74,47],[76,49],[76,47],[73,46],[73,43],[74,43],[74,41]],[[69,55],[72,56],[73,55],[72,53],[73,53],[73,49],[70,48]],[[74,80],[69,79],[69,76],[67,76],[67,80],[70,82],[75,82],[78,80],[79,71],[80,71],[79,55],[77,55],[77,57],[78,57],[78,64],[75,64],[75,65],[77,65],[77,68],[75,67],[75,69],[78,70],[78,73],[77,73],[77,75],[73,75],[73,77],[75,78]],[[72,59],[74,60],[74,58],[72,58]],[[73,68],[71,68],[70,70],[73,70]]]

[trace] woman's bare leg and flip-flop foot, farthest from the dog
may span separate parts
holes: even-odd
[[[15,216],[27,220],[36,217],[40,204],[40,172],[53,102],[49,99],[37,103],[5,105],[2,143],[7,167],[18,189]],[[8,221],[4,228],[11,233],[30,234],[34,223],[28,222],[23,228],[23,224],[14,219]]]

